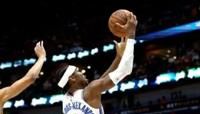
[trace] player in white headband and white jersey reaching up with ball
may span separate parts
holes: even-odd
[[[116,25],[118,29],[125,30],[127,36],[116,43],[116,57],[99,79],[88,83],[86,76],[73,65],[59,69],[62,78],[58,86],[66,91],[63,98],[64,114],[104,114],[102,92],[114,87],[132,72],[136,25],[136,17],[131,12],[126,25]]]

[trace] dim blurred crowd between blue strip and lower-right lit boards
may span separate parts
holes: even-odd
[[[156,51],[152,50],[152,51]],[[137,55],[136,55],[137,56]],[[156,77],[161,73],[179,72],[190,67],[200,66],[200,42],[182,42],[165,48],[158,53],[146,55],[133,69],[134,77]]]

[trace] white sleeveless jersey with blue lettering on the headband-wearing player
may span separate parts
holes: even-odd
[[[65,94],[63,98],[63,114],[104,114],[103,107],[93,108],[83,99],[83,89],[74,92],[74,95]]]

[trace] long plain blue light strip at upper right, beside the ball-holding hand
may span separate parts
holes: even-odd
[[[200,20],[179,25],[179,26],[175,26],[175,27],[171,27],[171,28],[164,29],[161,31],[152,32],[152,33],[145,34],[142,36],[138,36],[137,39],[148,41],[148,40],[153,40],[153,39],[165,38],[165,37],[173,36],[177,34],[187,33],[187,32],[191,32],[195,30],[200,30]]]

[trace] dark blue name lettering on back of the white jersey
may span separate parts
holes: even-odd
[[[67,114],[70,110],[78,109],[84,112],[84,114],[94,114],[92,110],[81,102],[72,102],[65,105],[64,113]]]

